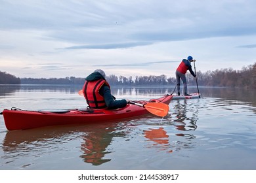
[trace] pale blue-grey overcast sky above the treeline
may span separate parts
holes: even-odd
[[[0,0],[0,71],[18,77],[175,76],[256,62],[255,0]],[[194,69],[194,65],[193,65]]]

